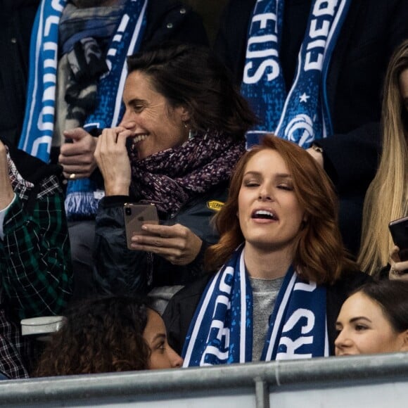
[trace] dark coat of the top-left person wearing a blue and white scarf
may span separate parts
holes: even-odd
[[[23,128],[30,37],[38,5],[39,0],[0,0],[0,136],[15,146]],[[208,45],[200,16],[179,1],[149,0],[146,19],[141,50],[167,40]]]

